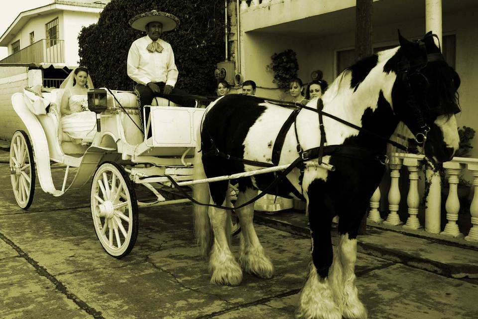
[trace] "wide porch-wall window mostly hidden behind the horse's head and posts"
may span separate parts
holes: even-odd
[[[398,45],[398,44],[397,44]],[[374,47],[373,53],[383,51],[396,47],[397,45],[387,45]],[[456,59],[456,38],[455,34],[444,35],[442,37],[442,52],[448,65],[455,68]],[[339,75],[345,68],[355,63],[355,49],[337,51],[337,75]]]

